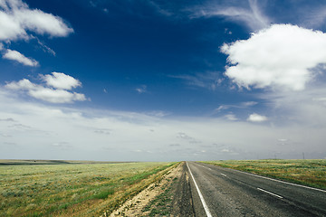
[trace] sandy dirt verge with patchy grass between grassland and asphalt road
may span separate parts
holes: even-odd
[[[187,165],[173,168],[109,216],[195,216]]]

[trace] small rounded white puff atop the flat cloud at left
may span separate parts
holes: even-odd
[[[72,90],[82,86],[81,81],[72,78],[62,72],[52,72],[52,75],[44,75],[43,80],[46,81],[47,86],[61,90]]]

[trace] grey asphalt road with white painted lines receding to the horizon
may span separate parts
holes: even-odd
[[[196,216],[326,216],[326,191],[216,165],[187,166]]]

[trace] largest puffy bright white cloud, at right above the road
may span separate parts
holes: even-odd
[[[247,89],[304,90],[313,68],[326,64],[326,34],[291,24],[274,24],[248,40],[224,44],[225,75]]]

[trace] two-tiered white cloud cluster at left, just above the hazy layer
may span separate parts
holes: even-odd
[[[53,72],[53,73],[58,73],[58,72]],[[24,79],[24,80],[9,82],[5,85],[5,88],[9,90],[26,91],[29,96],[35,99],[42,99],[44,101],[48,101],[52,103],[72,103],[73,101],[86,100],[84,94],[68,91],[71,90],[72,87],[74,87],[72,85],[71,80],[75,80],[75,79],[63,73],[59,73],[59,74],[60,74],[59,80],[55,80],[56,77],[53,77],[54,78],[53,80],[55,80],[54,85],[53,82],[50,82],[47,83],[47,86],[43,86],[41,84],[34,84],[30,80]],[[49,76],[51,77],[51,75]],[[50,78],[46,76],[44,77]],[[67,78],[68,81],[64,80],[63,78]],[[80,83],[80,81],[78,82]],[[64,87],[66,90],[62,90],[62,87]]]

